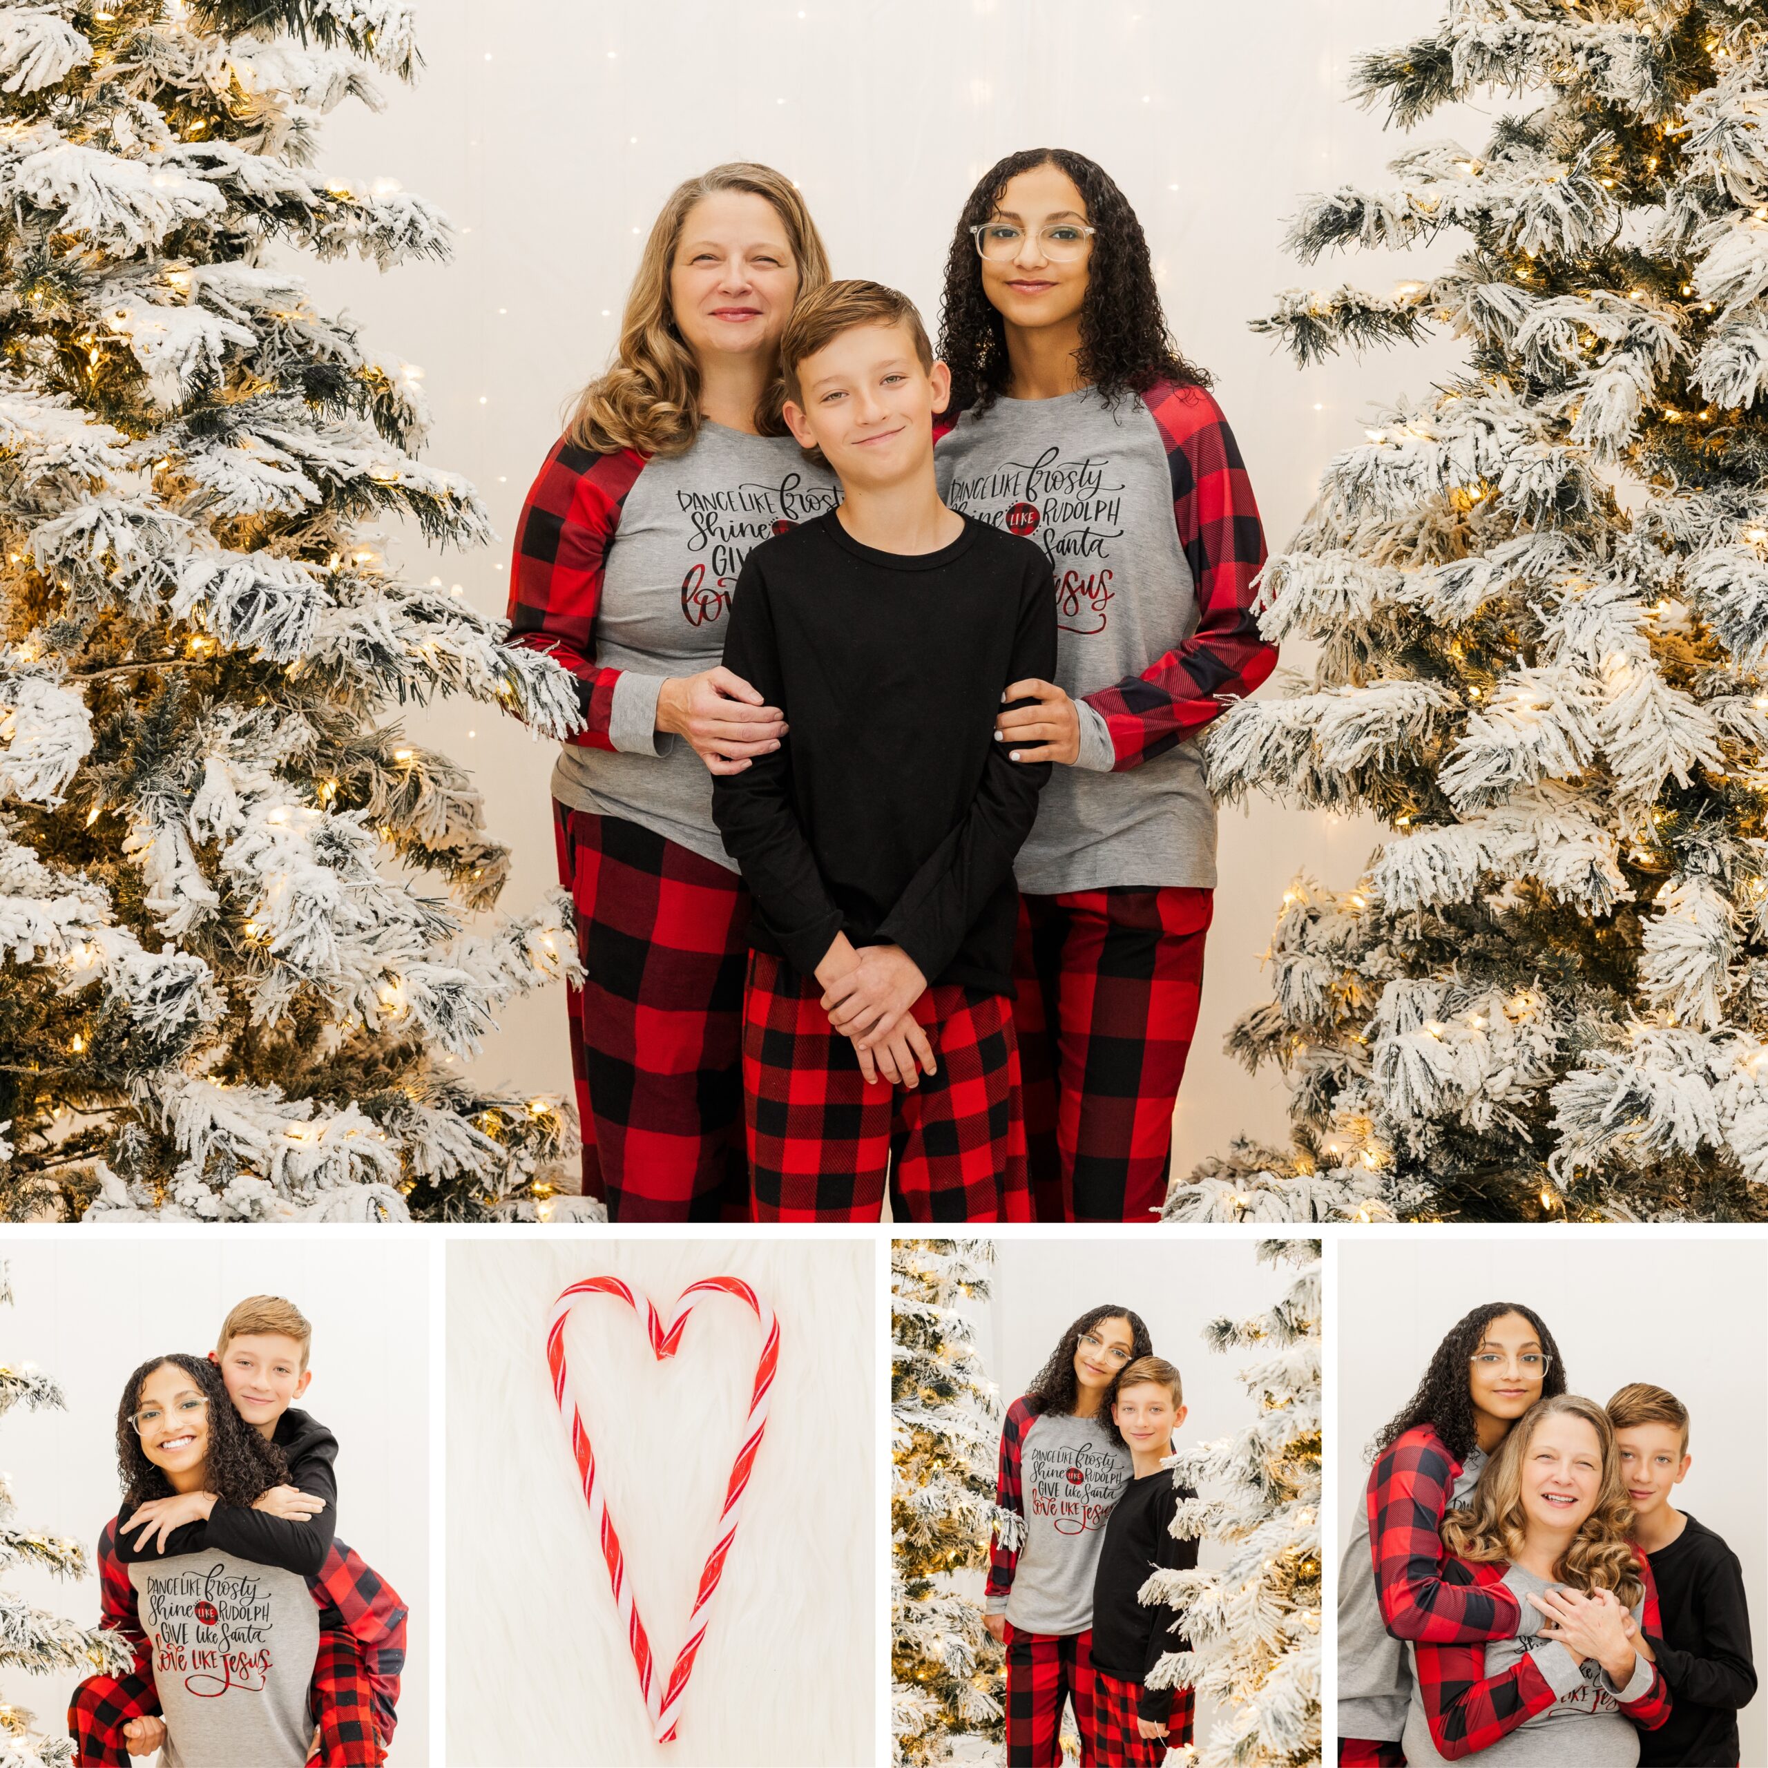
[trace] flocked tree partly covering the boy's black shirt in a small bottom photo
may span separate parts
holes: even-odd
[[[1181,1609],[1188,1651],[1149,1673],[1216,1703],[1197,1768],[1312,1768],[1321,1759],[1321,1248],[1262,1241],[1259,1257],[1296,1266],[1282,1301],[1255,1319],[1213,1321],[1215,1351],[1250,1349],[1239,1379],[1259,1407],[1236,1436],[1181,1450],[1172,1533],[1227,1549],[1213,1570],[1156,1572],[1144,1602]]]

